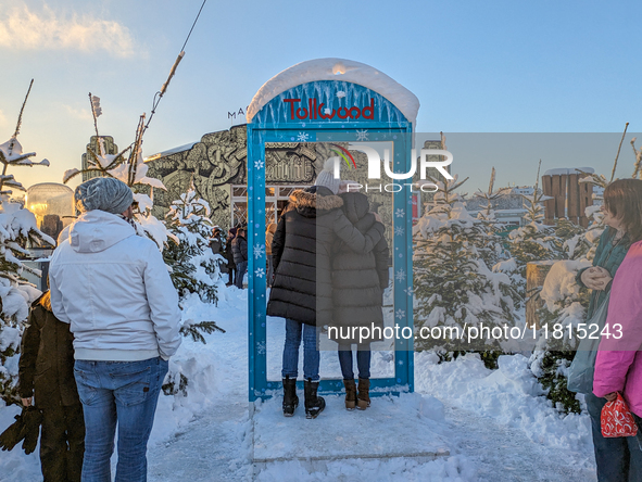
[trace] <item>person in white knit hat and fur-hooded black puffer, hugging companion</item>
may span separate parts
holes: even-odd
[[[363,234],[348,220],[341,211],[343,201],[336,195],[339,180],[331,176],[330,162],[333,160],[326,162],[316,186],[291,194],[272,244],[275,278],[267,315],[286,318],[281,371],[285,416],[292,416],[299,403],[295,383],[301,337],[306,417],[315,418],[325,408],[325,401],[317,396],[317,328],[329,325],[332,318],[330,256],[335,241],[340,239],[356,252],[368,252],[383,236],[382,225]]]

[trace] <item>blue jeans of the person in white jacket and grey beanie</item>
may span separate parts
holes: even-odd
[[[85,414],[83,482],[110,482],[118,423],[116,482],[147,480],[147,442],[168,363],[76,360],[74,376]]]

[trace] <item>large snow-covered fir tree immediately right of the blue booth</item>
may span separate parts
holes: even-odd
[[[483,239],[495,240],[489,237],[482,220],[468,214],[463,196],[455,192],[466,180],[458,181],[456,176],[445,182],[431,179],[439,188],[433,207],[413,229],[418,326],[462,330],[465,325],[483,322],[492,329],[514,321],[514,303],[508,294],[511,279],[503,272],[491,271],[478,248],[484,244]],[[473,347],[441,338],[419,341],[417,348],[435,350],[442,359],[449,359],[453,352],[481,352],[484,363],[493,367],[502,346],[489,339]]]

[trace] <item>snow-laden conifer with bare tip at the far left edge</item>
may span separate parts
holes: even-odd
[[[23,153],[17,140],[33,84],[34,80],[23,102],[13,136],[0,144],[0,397],[7,404],[20,402],[15,383],[23,324],[29,314],[30,303],[41,294],[22,276],[24,271],[37,276],[40,276],[40,272],[27,267],[21,258],[28,254],[25,250],[28,242],[41,246],[55,245],[49,236],[38,229],[33,213],[25,210],[21,203],[11,202],[9,199],[12,193],[10,188],[25,191],[23,185],[12,174],[8,174],[10,167],[49,166],[47,160],[39,163],[30,161],[29,157],[34,157],[36,153]]]

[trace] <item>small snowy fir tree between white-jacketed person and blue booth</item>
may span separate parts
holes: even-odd
[[[218,264],[225,259],[209,246],[214,227],[209,216],[210,204],[198,196],[191,181],[189,190],[172,203],[165,216],[165,224],[178,243],[169,242],[163,257],[172,266],[172,280],[181,297],[199,293],[203,302],[216,303]]]

